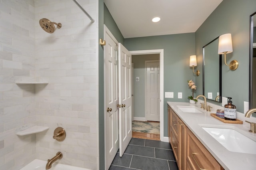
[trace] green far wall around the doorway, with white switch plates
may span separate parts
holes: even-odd
[[[164,99],[164,136],[168,136],[167,101],[188,102],[192,91],[188,89],[187,81],[195,76],[189,67],[189,57],[195,54],[195,34],[173,34],[124,39],[124,46],[129,51],[164,49],[164,92],[174,92],[174,98]],[[196,67],[197,68],[197,67]],[[202,77],[202,75],[199,75]],[[178,99],[182,92],[182,99]]]

